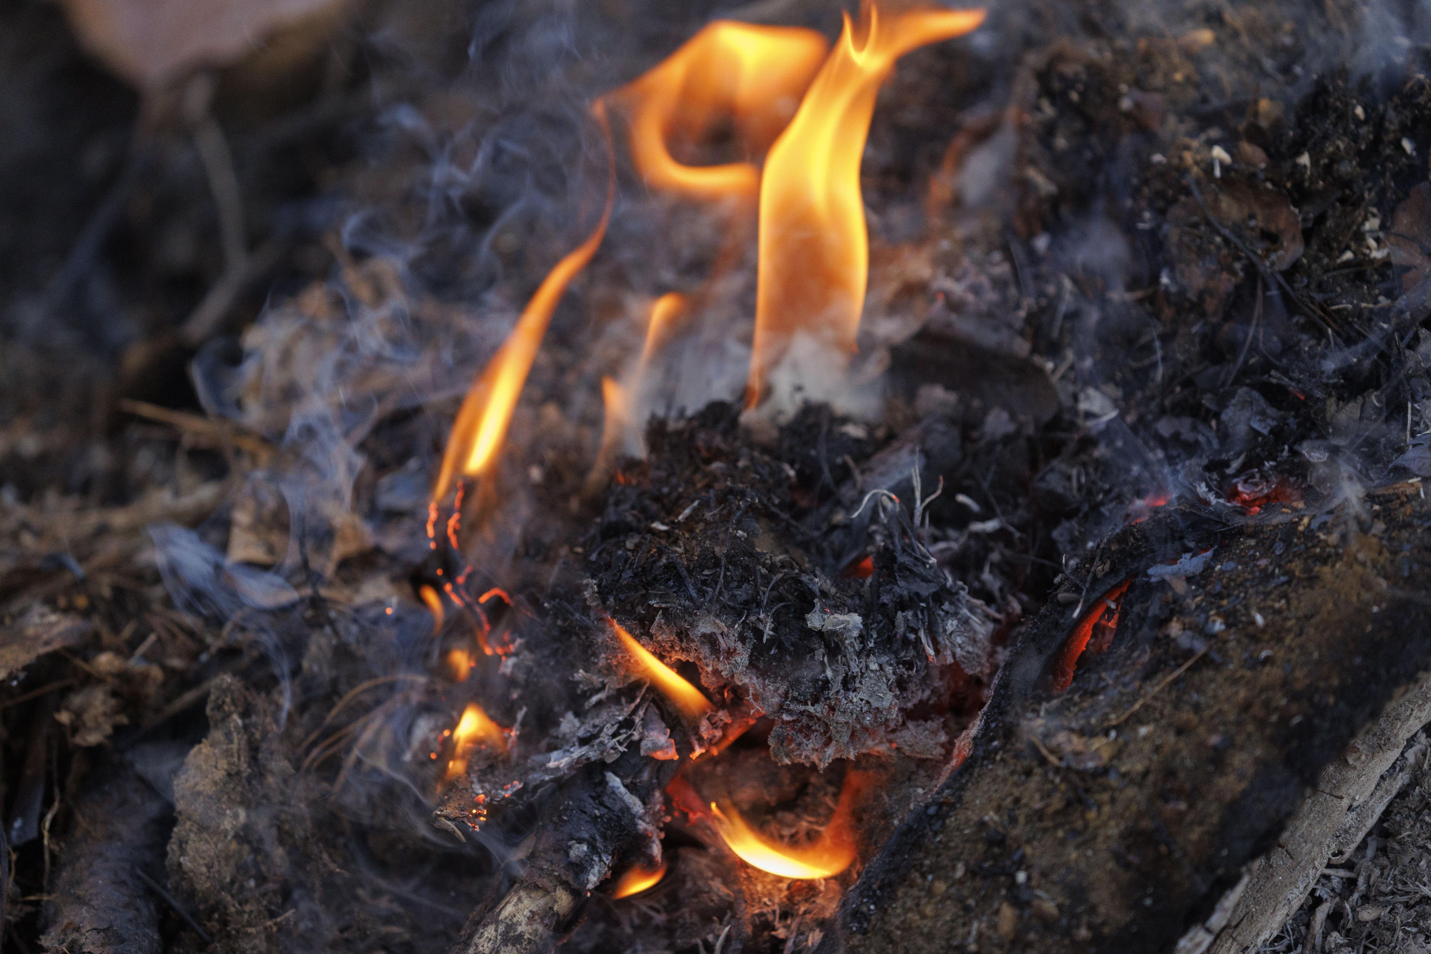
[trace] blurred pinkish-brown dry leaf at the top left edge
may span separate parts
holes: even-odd
[[[140,89],[235,63],[282,27],[346,0],[62,0],[90,53]]]

